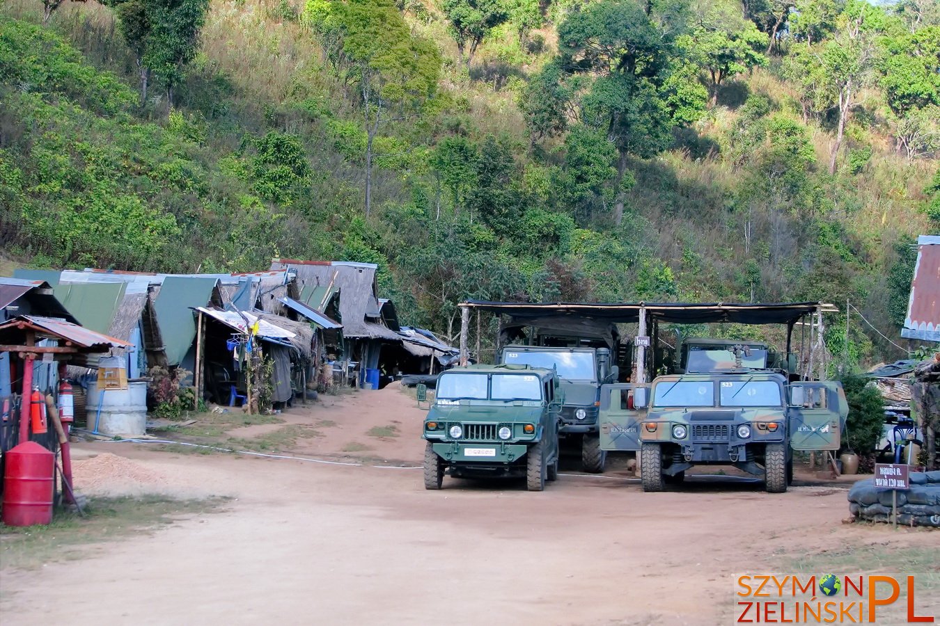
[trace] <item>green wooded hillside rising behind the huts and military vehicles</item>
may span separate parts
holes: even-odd
[[[143,102],[109,4],[0,7],[18,261],[375,262],[451,337],[468,297],[850,300],[901,343],[909,244],[940,231],[935,1],[211,0]],[[850,331],[855,363],[903,356]]]

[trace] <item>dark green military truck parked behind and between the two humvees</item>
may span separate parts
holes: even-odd
[[[601,385],[617,380],[619,368],[610,365],[610,350],[603,347],[550,347],[507,345],[499,362],[555,368],[565,391],[561,407],[561,436],[578,437],[585,471],[603,472],[607,450],[601,449],[598,431]]]

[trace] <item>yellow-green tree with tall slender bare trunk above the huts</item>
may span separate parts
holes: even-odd
[[[310,15],[311,11],[315,15]],[[441,56],[411,33],[392,0],[334,0],[306,8],[318,32],[341,51],[338,61],[356,84],[366,129],[366,214],[372,209],[375,139],[385,124],[414,119],[434,97]]]

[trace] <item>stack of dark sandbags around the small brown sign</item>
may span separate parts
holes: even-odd
[[[856,519],[891,521],[891,490],[858,481],[849,490],[849,511]],[[912,472],[911,488],[898,491],[898,524],[940,527],[940,471]]]

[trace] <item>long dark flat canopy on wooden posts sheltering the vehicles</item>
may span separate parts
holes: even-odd
[[[476,309],[496,315],[506,315],[508,322],[500,328],[510,326],[568,326],[572,328],[599,328],[600,323],[639,325],[637,337],[643,342],[636,342],[635,382],[646,382],[646,347],[649,344],[647,328],[654,328],[659,323],[666,324],[786,324],[787,352],[791,349],[791,335],[795,326],[804,317],[811,316],[818,327],[817,344],[823,342],[823,313],[836,313],[838,309],[824,302],[773,302],[773,303],[692,303],[692,302],[492,302],[485,300],[467,300],[462,302],[461,327],[461,362],[467,360],[466,339],[470,311]],[[810,341],[812,343],[812,340]]]

